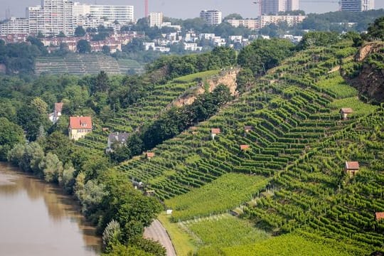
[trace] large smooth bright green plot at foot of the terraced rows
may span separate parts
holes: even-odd
[[[164,203],[174,210],[174,221],[223,213],[242,202],[250,201],[252,195],[264,188],[268,181],[264,176],[224,174],[212,183],[192,189],[189,193]]]

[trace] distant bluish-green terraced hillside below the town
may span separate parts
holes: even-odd
[[[134,60],[116,60],[107,55],[68,53],[64,57],[36,58],[35,73],[85,75],[104,70],[108,74],[142,73],[142,65]]]

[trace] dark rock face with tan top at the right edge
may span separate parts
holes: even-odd
[[[384,54],[381,51],[383,47],[383,42],[373,42],[363,46],[355,56],[355,61],[362,63],[360,73],[356,78],[346,78],[350,85],[358,89],[359,95],[377,104],[384,102],[384,69],[375,63],[369,63],[367,58],[373,53]]]

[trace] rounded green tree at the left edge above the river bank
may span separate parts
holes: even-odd
[[[0,117],[0,124],[0,161],[6,161],[8,151],[23,142],[23,129],[5,117]]]

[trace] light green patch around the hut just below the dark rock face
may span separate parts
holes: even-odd
[[[341,107],[351,107],[353,109],[353,115],[361,116],[370,114],[375,111],[378,106],[369,105],[358,100],[358,97],[347,97],[341,100],[334,100],[329,104],[332,112],[337,113]]]

